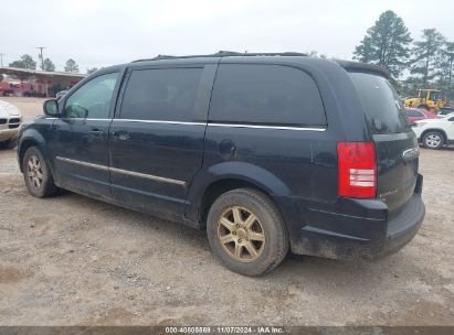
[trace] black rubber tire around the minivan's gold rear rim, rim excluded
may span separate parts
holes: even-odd
[[[225,252],[218,239],[218,220],[231,206],[242,206],[252,210],[262,224],[265,246],[255,261],[234,260]],[[207,234],[210,246],[221,262],[230,270],[244,275],[261,275],[271,271],[281,263],[288,250],[286,230],[277,208],[265,198],[265,195],[252,190],[241,188],[221,195],[210,208]]]

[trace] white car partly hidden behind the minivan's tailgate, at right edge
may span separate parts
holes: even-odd
[[[441,119],[415,121],[413,131],[418,141],[429,149],[454,144],[454,112]]]

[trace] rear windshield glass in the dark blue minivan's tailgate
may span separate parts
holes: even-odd
[[[373,133],[398,133],[410,130],[402,100],[384,77],[353,72],[349,75]]]

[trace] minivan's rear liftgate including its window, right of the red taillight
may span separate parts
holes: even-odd
[[[418,140],[407,121],[401,98],[387,78],[363,72],[350,72],[349,75],[376,144],[377,196],[393,212],[414,193]]]

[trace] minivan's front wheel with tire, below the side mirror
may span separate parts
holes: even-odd
[[[22,172],[31,195],[47,197],[56,192],[49,164],[36,147],[27,149],[22,159]]]

